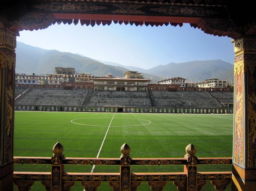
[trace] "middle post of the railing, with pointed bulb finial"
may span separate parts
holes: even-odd
[[[131,157],[130,157],[130,146],[126,143],[121,146],[120,156],[120,191],[130,191],[131,190]]]

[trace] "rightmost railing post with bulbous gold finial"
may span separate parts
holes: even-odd
[[[197,190],[197,149],[194,145],[189,144],[186,147],[187,165],[184,165],[184,172],[187,174],[187,191]]]

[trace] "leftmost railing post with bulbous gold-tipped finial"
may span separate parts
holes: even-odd
[[[53,148],[53,155],[51,157],[51,190],[62,191],[62,173],[64,173],[64,165],[62,165],[63,146],[57,142]]]

